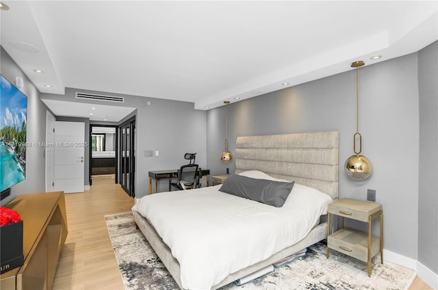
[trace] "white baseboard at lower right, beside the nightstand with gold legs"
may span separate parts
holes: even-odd
[[[415,269],[418,277],[422,278],[422,280],[433,289],[438,289],[438,274],[432,272],[432,270],[428,269],[428,267],[419,261],[385,249],[383,249],[383,259],[391,263]]]

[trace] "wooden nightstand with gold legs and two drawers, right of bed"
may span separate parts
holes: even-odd
[[[331,202],[327,214],[327,259],[329,250],[337,250],[368,263],[368,276],[371,277],[371,259],[381,252],[381,263],[383,264],[383,210],[382,205],[376,202],[365,200],[353,200],[344,198]],[[330,233],[331,215],[341,217],[340,229]],[[380,217],[381,237],[375,237],[371,233],[372,219]],[[344,228],[344,218],[368,222],[368,233],[363,233],[352,228]]]

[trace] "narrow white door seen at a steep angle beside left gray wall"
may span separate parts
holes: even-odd
[[[49,111],[46,113],[46,146],[45,146],[45,157],[46,157],[46,192],[53,192],[53,184],[55,183],[53,175],[53,155],[55,153],[55,117],[50,114]]]

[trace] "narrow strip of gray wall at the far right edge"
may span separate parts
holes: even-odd
[[[418,53],[420,185],[418,261],[438,273],[438,42]]]

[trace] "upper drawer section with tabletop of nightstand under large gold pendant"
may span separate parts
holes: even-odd
[[[345,203],[345,204],[344,204]],[[368,217],[382,209],[381,206],[376,207],[375,202],[365,202],[356,200],[338,200],[329,204],[329,213],[350,218],[352,220],[360,220],[368,222]]]

